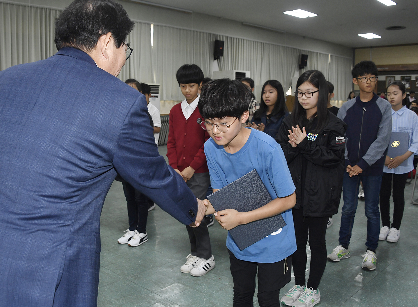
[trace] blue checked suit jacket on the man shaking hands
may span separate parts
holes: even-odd
[[[145,96],[75,48],[0,72],[0,306],[96,306],[116,171],[184,224],[197,202],[158,154]]]

